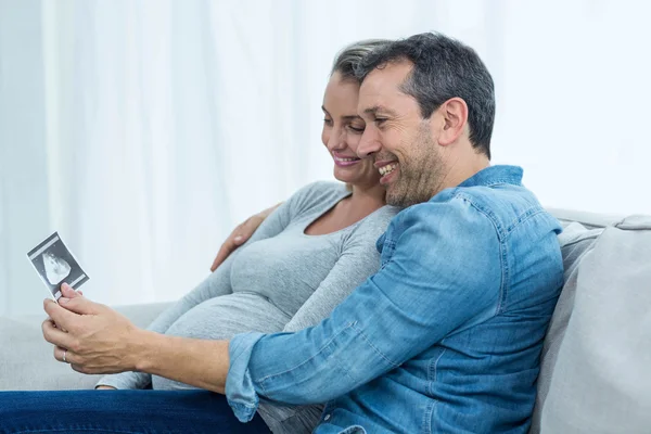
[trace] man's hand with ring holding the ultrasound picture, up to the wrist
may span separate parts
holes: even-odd
[[[82,373],[136,370],[141,330],[107,306],[75,293],[67,284],[61,291],[60,304],[46,299],[43,305],[49,316],[42,323],[43,336],[54,344],[54,358]]]

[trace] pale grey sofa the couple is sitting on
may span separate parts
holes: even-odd
[[[565,284],[541,355],[531,433],[651,433],[651,217],[550,209]],[[146,327],[167,304],[118,307]],[[0,391],[91,388],[52,359],[43,316],[0,317]]]

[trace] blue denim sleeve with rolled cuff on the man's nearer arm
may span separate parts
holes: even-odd
[[[297,333],[233,337],[226,394],[241,421],[258,396],[333,399],[496,314],[505,252],[487,215],[454,197],[414,205],[392,226],[397,239],[383,248],[393,255],[330,318]]]

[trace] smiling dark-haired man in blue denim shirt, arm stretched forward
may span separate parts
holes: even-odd
[[[46,303],[68,330],[43,323],[55,357],[226,393],[242,421],[260,398],[328,401],[316,433],[525,433],[562,285],[560,226],[520,168],[489,166],[490,75],[437,34],[388,44],[359,75],[358,153],[374,158],[387,203],[407,208],[378,241],[381,270],[329,319],[187,340],[138,330],[65,289],[63,307]]]

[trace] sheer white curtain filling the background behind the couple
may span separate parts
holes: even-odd
[[[230,229],[316,179],[348,42],[441,30],[492,71],[494,162],[549,206],[651,213],[647,2],[0,0],[0,314],[58,230],[107,304],[179,297]]]

